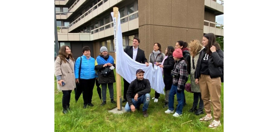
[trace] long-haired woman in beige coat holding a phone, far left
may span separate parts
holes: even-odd
[[[63,113],[66,114],[69,109],[69,100],[71,90],[76,87],[74,76],[74,59],[69,46],[62,46],[59,55],[55,60],[55,76],[57,78],[58,90],[62,90]]]

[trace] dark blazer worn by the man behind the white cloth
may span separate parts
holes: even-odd
[[[124,52],[128,54],[129,57],[133,57],[133,46],[126,46],[126,48],[124,49]],[[145,56],[144,50],[140,49],[138,47],[137,49],[137,55],[135,58],[135,61],[139,62],[139,63],[143,63],[145,64],[147,61],[147,58]]]

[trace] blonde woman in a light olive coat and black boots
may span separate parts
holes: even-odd
[[[190,63],[191,63],[190,85],[191,85],[191,91],[193,92],[193,106],[191,109],[189,109],[189,112],[194,112],[195,115],[204,114],[203,112],[204,102],[201,97],[200,86],[198,84],[195,84],[195,76],[194,76],[196,66],[197,66],[197,61],[199,58],[199,53],[204,48],[205,47],[202,46],[200,41],[197,39],[189,42]],[[199,102],[199,109],[197,109],[198,102]]]

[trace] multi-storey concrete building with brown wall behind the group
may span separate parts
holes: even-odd
[[[215,23],[215,16],[224,14],[223,1],[216,0],[56,0],[55,9],[59,47],[69,45],[74,58],[82,55],[82,47],[91,48],[91,56],[99,55],[106,46],[115,58],[113,22],[110,15],[118,7],[121,15],[123,47],[132,45],[139,37],[140,49],[149,58],[155,42],[175,46],[183,40],[202,40],[204,33],[224,36],[223,25]],[[217,27],[218,26],[218,27]],[[220,28],[219,28],[220,27]],[[56,58],[56,49],[54,57]]]

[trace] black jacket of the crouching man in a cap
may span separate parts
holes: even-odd
[[[128,105],[132,105],[133,102],[131,99],[138,93],[138,98],[146,93],[150,93],[150,81],[148,79],[143,78],[142,81],[138,80],[137,78],[133,80],[126,93],[126,98],[128,100]]]

